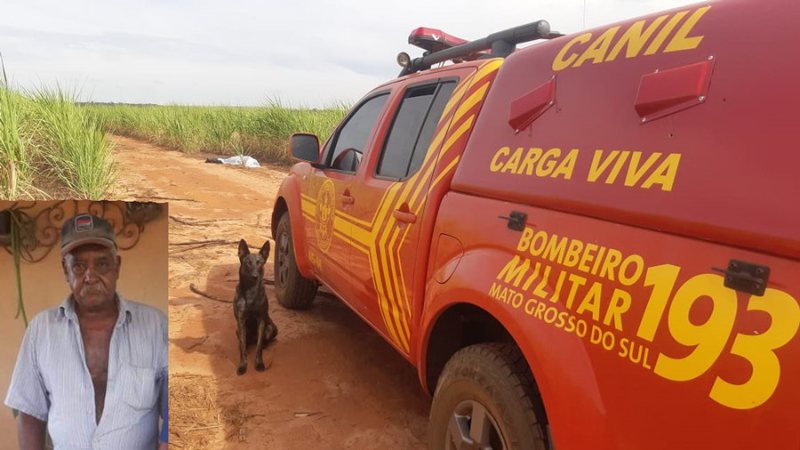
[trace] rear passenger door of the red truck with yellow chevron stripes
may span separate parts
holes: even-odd
[[[350,189],[357,290],[352,306],[404,354],[409,353],[419,223],[447,131],[437,125],[456,84],[456,77],[439,75],[406,86],[393,101],[393,117],[385,120],[391,120],[388,129],[365,156]]]

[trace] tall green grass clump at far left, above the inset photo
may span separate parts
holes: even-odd
[[[114,182],[111,144],[76,98],[62,89],[20,93],[3,78],[0,199],[103,197]]]

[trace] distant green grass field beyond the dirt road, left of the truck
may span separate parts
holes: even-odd
[[[347,112],[347,105],[325,109],[292,108],[272,100],[263,107],[231,106],[84,106],[109,133],[147,140],[187,153],[251,155],[287,163],[286,145],[296,132],[326,139]]]

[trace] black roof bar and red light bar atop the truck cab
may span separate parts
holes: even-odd
[[[422,57],[411,59],[408,53],[397,55],[403,67],[399,76],[430,69],[432,65],[445,61],[470,61],[477,58],[505,58],[514,52],[517,44],[537,39],[553,39],[562,36],[550,31],[546,20],[492,33],[484,38],[466,41],[433,28],[417,28],[408,36],[408,43],[425,50]],[[487,52],[488,50],[488,52]]]

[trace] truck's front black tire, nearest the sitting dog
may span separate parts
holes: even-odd
[[[275,297],[289,309],[308,309],[317,295],[317,282],[297,270],[289,213],[285,212],[275,229]]]

